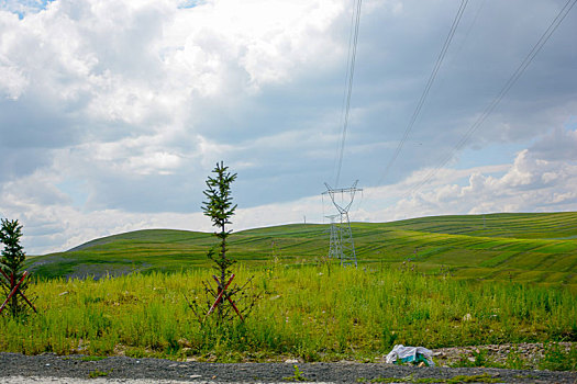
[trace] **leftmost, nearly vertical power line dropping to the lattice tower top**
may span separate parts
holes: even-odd
[[[353,12],[354,25],[351,25],[352,33],[348,38],[348,60],[347,60],[347,77],[345,79],[345,89],[347,91],[346,99],[343,101],[344,117],[343,121],[343,132],[341,137],[341,144],[337,148],[337,160],[336,160],[336,177],[335,177],[335,188],[339,185],[339,179],[341,178],[341,169],[343,167],[343,153],[345,149],[346,140],[346,128],[348,126],[348,116],[351,110],[351,95],[353,94],[353,77],[355,75],[355,61],[356,61],[356,47],[358,42],[358,25],[360,23],[360,5],[363,0],[357,0],[356,8]]]

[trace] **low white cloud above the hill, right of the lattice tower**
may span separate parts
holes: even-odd
[[[441,169],[425,187],[418,188],[428,170],[415,172],[392,187],[368,189],[366,202],[391,201],[387,207],[362,210],[363,221],[401,219],[428,215],[498,212],[572,211],[577,204],[577,158],[559,158],[556,145],[572,143],[577,131],[552,129],[532,148],[517,154],[511,165],[475,169]],[[570,144],[569,144],[570,147]],[[567,161],[568,160],[568,161]]]

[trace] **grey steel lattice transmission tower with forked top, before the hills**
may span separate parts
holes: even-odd
[[[355,264],[356,267],[355,242],[353,241],[348,210],[351,208],[351,205],[353,205],[355,193],[363,191],[362,189],[356,188],[357,183],[358,180],[355,181],[351,188],[340,189],[333,189],[328,183],[324,183],[324,185],[326,185],[326,191],[322,193],[323,195],[328,194],[331,197],[333,205],[339,212],[336,215],[326,217],[331,219],[329,257],[339,258],[339,260],[341,260],[341,266]],[[336,194],[341,194],[341,204],[335,200]],[[348,199],[345,200],[345,195],[348,195]]]

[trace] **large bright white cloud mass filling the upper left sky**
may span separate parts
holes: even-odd
[[[343,12],[339,2],[177,5],[60,0],[22,20],[2,12],[0,57],[9,76],[0,86],[18,102],[0,105],[5,136],[24,147],[53,138],[62,148],[75,144],[63,137],[74,137],[78,149],[140,135],[175,145],[167,143],[175,133],[185,140],[248,139],[259,132],[245,122],[214,122],[210,112],[244,118],[246,99],[264,87],[290,82],[306,68],[330,68],[328,58],[343,55],[326,34]]]

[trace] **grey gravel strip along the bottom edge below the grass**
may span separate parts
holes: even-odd
[[[446,382],[458,375],[488,375],[501,383],[577,383],[577,372],[484,368],[399,366],[384,363],[298,363],[304,382],[358,383],[396,377]],[[0,383],[286,383],[296,377],[293,363],[201,363],[111,357],[0,353]],[[56,377],[62,377],[57,381]],[[96,377],[96,379],[91,379]]]

